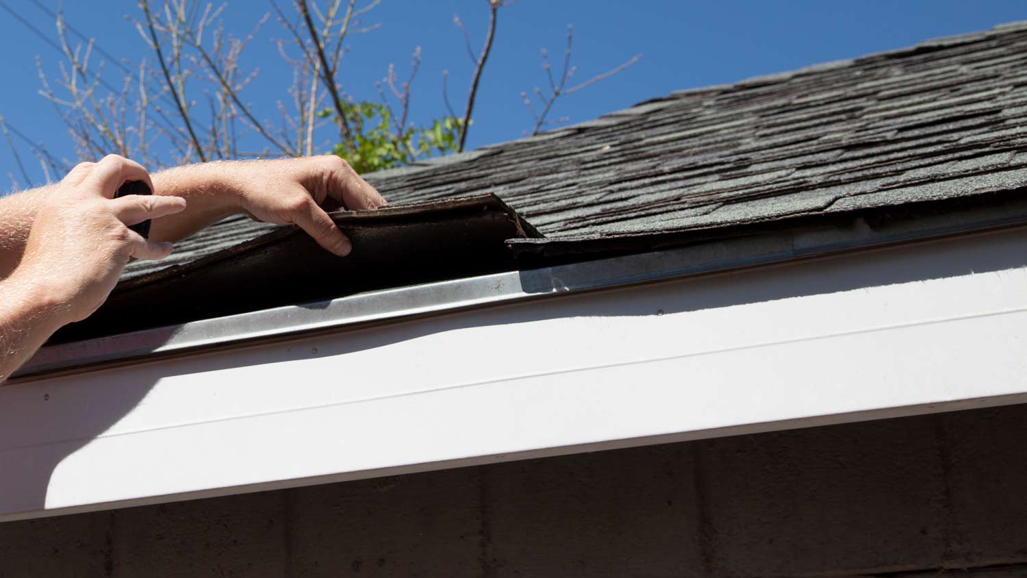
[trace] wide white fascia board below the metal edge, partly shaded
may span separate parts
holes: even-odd
[[[0,521],[1027,400],[1027,230],[0,388]]]

